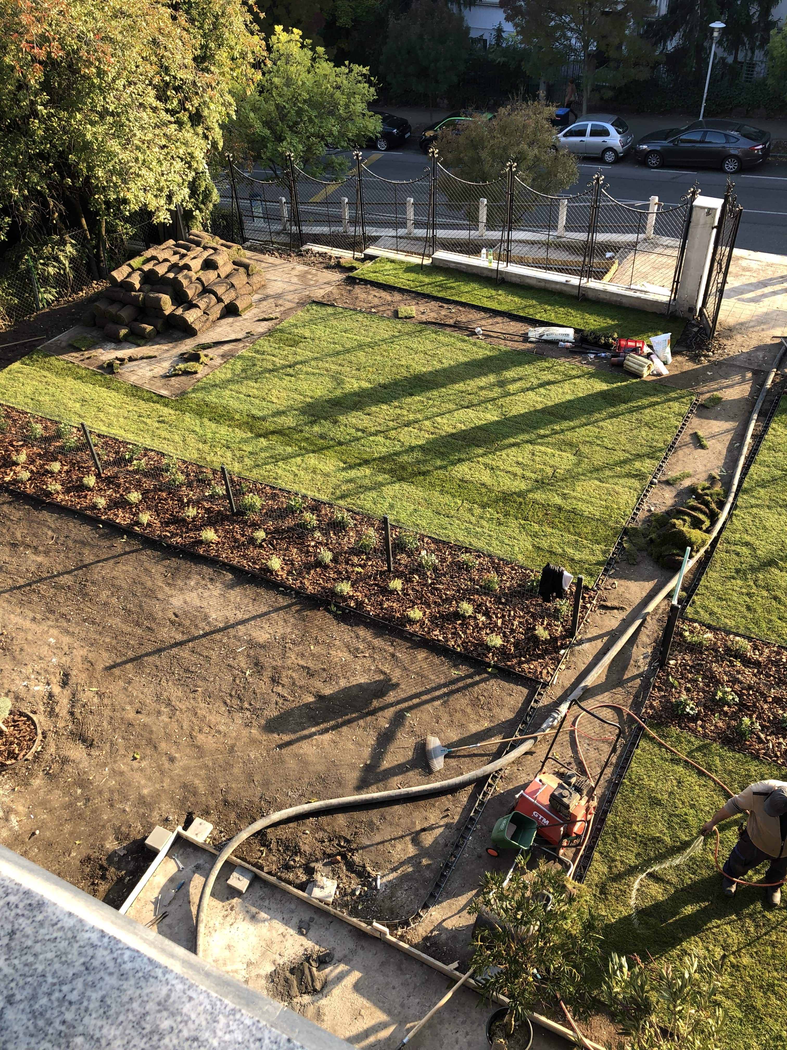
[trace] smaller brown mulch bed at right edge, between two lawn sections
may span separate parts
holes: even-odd
[[[645,715],[732,751],[785,762],[787,649],[682,621]]]

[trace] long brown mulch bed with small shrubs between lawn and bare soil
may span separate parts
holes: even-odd
[[[233,516],[217,470],[114,438],[95,438],[104,477],[86,488],[83,479],[95,470],[80,432],[59,430],[50,420],[16,408],[4,408],[4,415],[0,482],[16,491],[251,570],[337,609],[362,612],[540,681],[551,678],[570,644],[573,591],[561,604],[541,601],[535,592],[537,573],[524,566],[392,528],[389,573],[379,519],[342,511],[344,521],[337,521],[332,504],[239,478],[233,479],[239,508],[243,496],[256,496],[261,506],[256,513]],[[28,435],[31,421],[41,427],[38,438]],[[57,472],[51,464],[59,464]],[[140,496],[133,504],[130,494]],[[148,519],[141,522],[141,512]],[[215,539],[204,539],[206,529]],[[264,537],[255,539],[260,530]],[[359,547],[364,533],[375,540],[368,551]],[[319,561],[323,549],[333,555],[327,565]],[[400,591],[388,588],[391,579],[401,581]],[[342,593],[345,582],[350,589]],[[593,590],[584,592],[582,614],[594,596]],[[459,612],[463,602],[472,607],[465,616]],[[408,616],[413,609],[421,618]],[[548,636],[538,637],[536,630]],[[490,636],[501,644],[494,646],[492,638],[490,645]]]

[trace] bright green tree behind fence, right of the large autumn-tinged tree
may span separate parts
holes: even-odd
[[[259,85],[240,107],[234,128],[248,153],[274,169],[292,152],[313,173],[340,171],[343,158],[325,158],[328,146],[352,149],[380,131],[369,112],[376,98],[368,69],[336,66],[323,47],[299,29],[275,26]]]

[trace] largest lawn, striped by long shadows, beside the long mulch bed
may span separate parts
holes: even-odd
[[[595,578],[690,396],[312,304],[176,400],[43,355],[0,400]]]

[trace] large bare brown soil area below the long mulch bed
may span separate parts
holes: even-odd
[[[217,843],[311,798],[420,783],[427,733],[510,736],[535,695],[284,586],[19,496],[0,497],[0,692],[42,729],[34,759],[0,776],[0,837],[114,906],[150,861],[154,825],[196,815]],[[452,757],[450,773],[489,754]],[[469,799],[286,825],[243,856],[299,888],[324,863],[336,906],[407,917]]]

